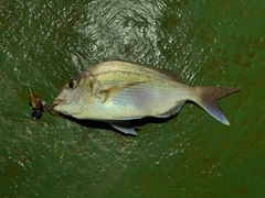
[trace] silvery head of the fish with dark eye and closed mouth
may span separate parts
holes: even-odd
[[[92,98],[92,80],[86,73],[65,84],[63,90],[53,101],[53,109],[60,113],[75,117],[88,108]]]

